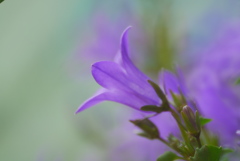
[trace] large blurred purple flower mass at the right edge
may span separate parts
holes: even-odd
[[[240,127],[240,25],[227,28],[220,39],[200,55],[187,81],[204,116],[213,119],[209,128],[221,143],[234,143]]]

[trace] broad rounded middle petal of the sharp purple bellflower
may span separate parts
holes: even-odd
[[[101,61],[93,64],[92,75],[104,88],[125,91],[152,105],[160,104],[160,99],[150,84],[127,75],[126,70],[115,62]]]

